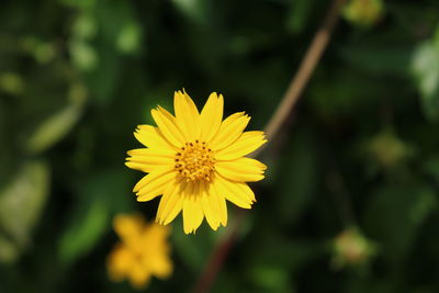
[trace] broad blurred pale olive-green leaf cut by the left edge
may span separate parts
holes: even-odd
[[[0,258],[0,262],[13,261],[19,251],[29,245],[32,229],[48,195],[48,182],[47,165],[43,161],[29,161],[0,190],[0,237],[3,237],[0,250],[9,251],[4,259]],[[12,243],[18,251],[11,247]]]

